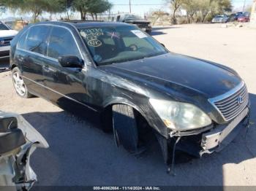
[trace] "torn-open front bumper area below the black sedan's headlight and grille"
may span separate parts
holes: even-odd
[[[171,158],[177,151],[193,157],[219,152],[227,146],[240,132],[249,125],[249,107],[225,125],[210,125],[198,130],[170,132],[170,139],[157,136],[162,148],[165,163],[172,163]],[[179,161],[176,161],[177,163]]]

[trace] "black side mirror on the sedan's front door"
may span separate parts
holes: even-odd
[[[62,55],[58,60],[61,66],[65,68],[83,68],[83,61],[75,55]]]

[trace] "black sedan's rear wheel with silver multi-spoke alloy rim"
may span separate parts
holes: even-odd
[[[20,70],[18,67],[15,67],[12,69],[12,83],[15,87],[16,93],[20,95],[22,98],[31,98],[32,95],[29,93],[28,89],[26,88],[26,85],[23,81],[23,77],[21,76]]]

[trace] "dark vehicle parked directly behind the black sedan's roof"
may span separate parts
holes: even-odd
[[[132,15],[132,14],[117,15],[116,22],[134,24],[139,28],[141,28],[143,31],[146,31],[148,34],[151,34],[151,31],[152,31],[151,23],[147,20],[144,20],[142,17],[138,15]]]

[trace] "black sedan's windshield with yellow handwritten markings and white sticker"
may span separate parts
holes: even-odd
[[[98,66],[167,53],[161,44],[135,26],[79,28]]]

